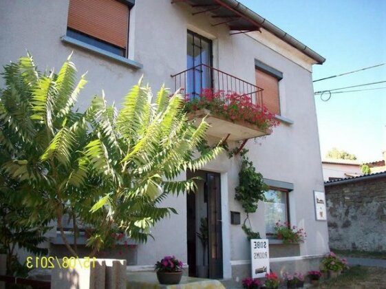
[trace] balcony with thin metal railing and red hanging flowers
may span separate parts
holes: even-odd
[[[189,118],[200,123],[207,116],[209,136],[248,140],[270,134],[275,125],[273,115],[264,109],[263,89],[252,83],[205,64],[171,77],[175,90],[181,89],[186,101],[193,104],[186,105]],[[214,107],[208,99],[219,105]],[[237,109],[230,109],[235,106]]]

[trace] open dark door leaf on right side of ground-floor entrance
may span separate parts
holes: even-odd
[[[222,216],[219,173],[206,173],[208,190],[209,278],[222,278]]]

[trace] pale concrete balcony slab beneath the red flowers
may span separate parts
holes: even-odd
[[[189,119],[195,119],[197,125],[205,116],[207,116],[206,122],[211,125],[208,129],[209,136],[226,138],[229,134],[228,140],[237,141],[266,136],[271,133],[270,129],[260,129],[257,125],[242,120],[227,120],[224,116],[213,114],[208,109],[199,109],[188,114]]]

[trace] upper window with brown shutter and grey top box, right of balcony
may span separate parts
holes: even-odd
[[[279,81],[283,74],[261,61],[255,60],[256,85],[264,89],[263,103],[268,111],[280,115]]]

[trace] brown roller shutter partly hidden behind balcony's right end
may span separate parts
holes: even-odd
[[[268,111],[280,115],[279,81],[277,78],[256,69],[256,85],[264,89],[263,103]]]

